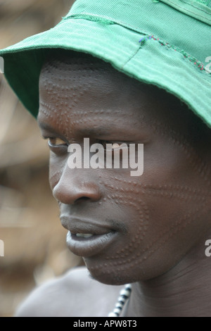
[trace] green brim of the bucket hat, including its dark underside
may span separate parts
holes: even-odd
[[[202,63],[167,40],[106,20],[74,17],[0,51],[6,79],[35,117],[41,67],[48,50],[58,48],[91,54],[136,80],[167,90],[211,127],[211,75]]]

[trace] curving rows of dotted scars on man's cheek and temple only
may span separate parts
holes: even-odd
[[[125,268],[129,269],[141,265],[141,263],[151,257],[155,251],[162,248],[170,238],[177,235],[188,225],[191,225],[191,223],[199,220],[200,217],[204,218],[210,213],[210,168],[208,168],[205,161],[198,156],[198,153],[193,146],[191,146],[186,137],[172,130],[172,128],[167,125],[160,123],[158,125],[158,123],[153,121],[148,122],[148,125],[151,126],[153,131],[159,132],[160,135],[165,135],[167,139],[171,139],[174,144],[179,146],[181,153],[184,154],[190,164],[190,170],[193,174],[195,173],[196,176],[200,176],[204,189],[198,188],[194,186],[194,184],[193,187],[180,184],[176,185],[170,182],[165,184],[161,183],[160,185],[143,184],[141,180],[137,183],[133,180],[114,177],[113,185],[105,185],[112,190],[112,193],[108,194],[107,199],[113,204],[122,204],[126,207],[135,208],[139,213],[140,226],[136,229],[136,236],[134,236],[132,242],[121,251],[115,252],[115,256],[107,256],[108,262],[99,266],[99,270],[103,270],[104,274],[110,273],[107,269],[108,266],[115,266],[117,272],[121,273]],[[100,183],[103,185],[103,182]],[[124,196],[125,193],[127,193],[127,195],[122,197],[121,192],[124,192]],[[141,240],[146,236],[148,224],[150,223],[150,208],[148,208],[146,202],[144,202],[148,200],[148,196],[151,198],[153,196],[155,199],[163,198],[166,200],[167,204],[168,200],[179,200],[181,204],[186,205],[187,211],[181,218],[166,226],[165,230],[160,232],[155,239],[148,243],[145,249],[139,249],[138,253],[132,255],[132,252],[139,248]],[[140,199],[140,197],[142,199]]]

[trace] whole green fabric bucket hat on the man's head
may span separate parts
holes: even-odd
[[[49,49],[92,54],[184,101],[211,127],[211,0],[77,0],[56,27],[0,51],[35,117]]]

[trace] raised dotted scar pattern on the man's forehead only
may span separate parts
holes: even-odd
[[[70,65],[70,60],[66,61],[66,63]],[[61,68],[60,65],[62,65]],[[77,127],[77,125],[84,123],[93,125],[94,121],[98,120],[99,115],[112,113],[112,111],[105,112],[103,109],[94,111],[83,109],[80,111],[77,107],[82,97],[89,94],[90,80],[93,85],[99,85],[98,78],[93,77],[94,71],[103,75],[108,69],[103,68],[101,63],[99,65],[90,63],[90,61],[82,63],[77,59],[72,59],[70,80],[68,70],[67,74],[64,75],[63,65],[64,63],[54,60],[46,63],[44,66],[42,85],[46,92],[45,99],[49,100],[49,103],[44,103],[40,100],[39,112],[44,113],[46,118],[56,119],[58,130],[63,132],[65,137],[70,137],[73,128]],[[55,70],[58,82],[55,82]],[[65,85],[66,81],[68,82],[67,85]]]

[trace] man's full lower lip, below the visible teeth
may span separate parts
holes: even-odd
[[[90,233],[90,232],[89,232]],[[94,256],[110,246],[117,232],[108,232],[103,235],[93,235],[89,238],[77,237],[70,231],[67,235],[67,244],[70,251],[77,256]]]

